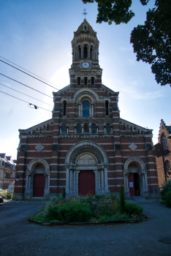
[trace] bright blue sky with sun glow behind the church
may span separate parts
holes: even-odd
[[[54,83],[57,89],[63,88],[69,84],[73,32],[83,22],[82,13],[86,7],[86,19],[99,39],[102,83],[120,92],[118,106],[121,118],[153,129],[153,142],[157,143],[161,118],[167,125],[171,121],[167,107],[170,102],[170,86],[156,83],[151,66],[136,61],[129,42],[132,29],[144,23],[146,12],[153,5],[154,0],[146,7],[140,1],[133,0],[135,17],[128,24],[109,26],[107,23],[96,23],[96,4],[83,4],[81,0],[0,0],[0,56]],[[50,96],[52,91],[56,91],[1,61],[0,73]],[[53,99],[2,75],[0,83],[53,105]],[[1,85],[0,91],[50,111],[53,108]],[[46,110],[29,108],[27,103],[1,92],[0,108],[0,152],[16,159],[18,129],[39,124],[51,118],[52,114]]]

